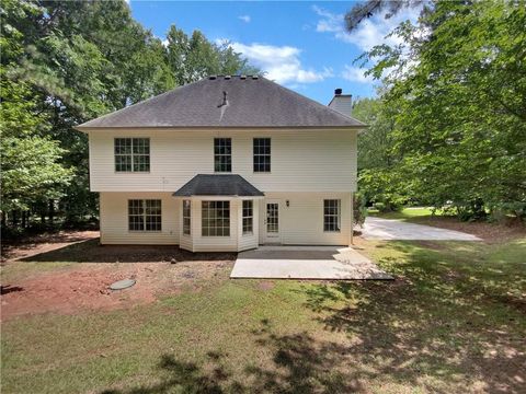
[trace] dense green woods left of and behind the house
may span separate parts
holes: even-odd
[[[75,125],[206,74],[256,71],[198,31],[172,25],[163,43],[124,0],[3,0],[0,12],[4,236],[96,221],[88,139]]]

